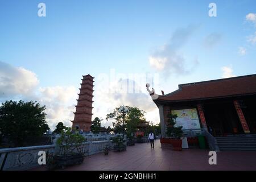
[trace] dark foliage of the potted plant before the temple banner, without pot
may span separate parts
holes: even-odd
[[[183,131],[182,131],[182,126],[179,126],[179,127],[175,126],[177,115],[168,114],[167,117],[168,117],[167,131],[166,131],[167,136],[175,139],[180,139],[180,137],[183,134]]]

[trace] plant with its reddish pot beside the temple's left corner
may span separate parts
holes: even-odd
[[[168,138],[162,138],[160,140],[161,144],[165,146],[165,143],[171,144],[172,150],[181,151],[182,150],[182,140],[180,137],[183,134],[182,126],[176,127],[175,119],[177,118],[176,114],[168,114],[167,115],[167,131],[166,134]]]

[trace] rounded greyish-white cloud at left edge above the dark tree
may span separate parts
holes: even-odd
[[[0,98],[31,94],[38,84],[39,80],[34,72],[0,61]]]

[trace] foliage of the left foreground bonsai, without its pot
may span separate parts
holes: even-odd
[[[57,145],[62,148],[63,155],[82,154],[82,143],[85,138],[78,131],[72,131],[71,127],[65,127],[57,139]],[[75,152],[75,150],[77,152]]]

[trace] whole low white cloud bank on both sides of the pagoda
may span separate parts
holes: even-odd
[[[93,118],[102,117],[105,120],[106,114],[113,111],[120,105],[139,107],[146,111],[148,121],[159,122],[158,107],[151,100],[149,94],[142,92],[146,86],[135,83],[136,93],[123,92],[126,79],[119,79],[104,85],[104,82],[97,82],[94,92]],[[146,84],[146,82],[145,82]],[[5,100],[38,101],[41,106],[46,105],[47,123],[51,130],[55,129],[58,122],[65,126],[71,126],[76,110],[76,99],[78,98],[79,86],[46,86],[39,87],[39,80],[35,73],[24,68],[13,67],[10,64],[0,62],[0,102]],[[110,90],[106,92],[106,86]],[[92,118],[92,119],[93,119]],[[102,122],[102,126],[110,126],[112,122]]]

